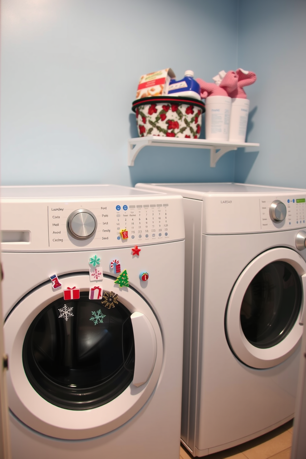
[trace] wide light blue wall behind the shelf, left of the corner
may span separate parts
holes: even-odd
[[[2,0],[3,185],[230,181],[234,152],[146,147],[127,166],[139,77],[237,68],[238,0]]]

